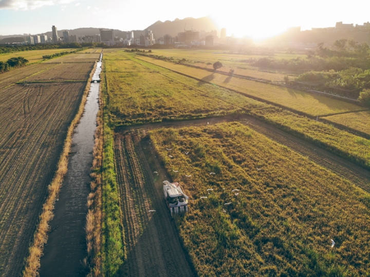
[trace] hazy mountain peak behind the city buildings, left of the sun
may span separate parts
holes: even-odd
[[[176,18],[174,21],[168,20],[165,22],[157,21],[146,29],[152,30],[155,36],[159,38],[161,36],[164,36],[165,34],[176,36],[177,33],[183,32],[184,29],[209,32],[212,30],[218,30],[218,26],[210,17],[205,16],[200,18]]]

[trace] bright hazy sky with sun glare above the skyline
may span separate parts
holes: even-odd
[[[52,25],[137,30],[158,20],[210,15],[227,35],[258,39],[292,26],[363,24],[369,11],[370,0],[0,0],[0,35],[42,33]]]

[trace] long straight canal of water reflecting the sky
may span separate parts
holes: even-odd
[[[93,76],[84,114],[72,136],[68,171],[55,203],[54,218],[44,255],[40,276],[86,275],[83,259],[87,255],[85,217],[89,193],[90,167],[93,163],[94,132],[99,109],[101,58]],[[95,81],[97,81],[95,83]]]

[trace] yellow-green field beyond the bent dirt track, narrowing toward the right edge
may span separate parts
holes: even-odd
[[[362,167],[370,168],[370,141],[363,137],[339,130],[338,128],[328,124],[311,120],[305,116],[301,116],[278,107],[254,101],[251,98],[227,89],[202,83],[187,76],[179,75],[167,69],[138,60],[132,57],[131,54],[110,53],[106,56],[107,59],[110,57],[112,60],[115,60],[107,62],[107,78],[108,80],[109,78],[114,80],[114,82],[112,82],[112,86],[109,87],[109,93],[112,94],[112,97],[110,97],[111,106],[109,111],[113,114],[113,121],[116,122],[117,125],[131,124],[130,116],[132,116],[132,114],[134,116],[137,114],[140,115],[140,113],[142,117],[140,120],[135,122],[136,124],[145,122],[145,116],[148,121],[148,118],[151,118],[153,114],[156,115],[157,121],[161,121],[164,117],[161,110],[168,110],[170,108],[174,109],[171,114],[172,118],[178,120],[181,118],[181,112],[184,110],[183,107],[186,108],[187,102],[191,101],[193,98],[196,99],[196,104],[200,108],[197,107],[198,110],[193,111],[189,109],[187,118],[195,118],[199,116],[197,112],[201,108],[205,109],[204,107],[208,108],[211,112],[208,115],[203,114],[202,116],[210,116],[215,114],[214,112],[212,113],[212,109],[218,109],[223,107],[222,105],[225,105],[218,103],[228,103],[231,105],[228,106],[229,111],[225,109],[223,113],[220,114],[251,114],[261,120],[278,126],[289,133],[300,136],[307,141],[343,156]],[[136,61],[137,63],[135,64],[126,60],[117,61],[117,58],[119,57],[121,57],[121,59],[132,58],[132,61]],[[153,76],[156,77],[154,78]],[[167,77],[167,79],[164,77]],[[161,80],[159,84],[152,81],[157,78]],[[140,82],[136,82],[138,83],[136,84],[135,81],[138,80],[140,80]],[[172,94],[161,94],[163,91],[168,89],[168,84],[177,89],[178,94],[175,94],[174,97],[177,101],[175,103],[171,100]],[[256,84],[264,86],[264,84],[261,83]],[[150,88],[145,87],[146,85]],[[156,90],[157,87],[155,87],[155,85],[158,86],[157,90],[159,92],[151,93],[151,90]],[[140,86],[139,89],[137,86]],[[261,90],[262,89],[263,87]],[[271,91],[271,93],[273,92]],[[205,97],[201,98],[200,96]],[[303,97],[306,98],[308,96]],[[212,102],[214,104],[211,106],[208,105],[209,101],[211,101],[208,100],[209,98],[213,98]],[[321,105],[321,108],[329,111],[329,113],[332,113],[337,109],[361,109],[361,107],[353,104],[333,100],[332,98],[323,98],[325,98],[326,104],[334,102],[334,104],[330,105]],[[306,101],[309,102],[309,109],[313,110],[315,105],[318,105],[318,102],[316,98],[311,98],[311,100],[311,102],[309,102],[309,100]],[[220,102],[217,103],[217,101]],[[194,107],[192,104],[188,105],[191,108]],[[343,105],[343,107],[340,105]],[[165,116],[167,117],[168,114],[165,114]]]

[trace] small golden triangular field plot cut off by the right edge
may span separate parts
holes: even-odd
[[[370,111],[337,114],[323,118],[370,135]]]

